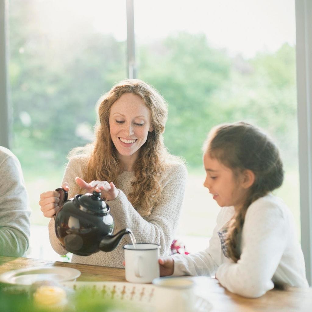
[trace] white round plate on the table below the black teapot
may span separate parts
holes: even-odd
[[[79,270],[62,266],[32,267],[9,271],[0,275],[0,281],[8,284],[31,285],[37,281],[64,282],[80,276]]]

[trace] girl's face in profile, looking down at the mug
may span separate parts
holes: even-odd
[[[220,207],[234,206],[238,211],[247,196],[244,175],[236,176],[230,168],[216,158],[210,158],[208,153],[204,154],[203,161],[207,174],[204,187],[208,188]]]

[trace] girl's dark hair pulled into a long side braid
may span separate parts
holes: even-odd
[[[277,146],[260,129],[244,122],[222,124],[208,134],[205,152],[210,158],[233,170],[235,175],[246,169],[255,174],[242,209],[228,223],[225,244],[228,256],[240,258],[239,236],[248,207],[256,199],[279,188],[284,179],[283,163]]]

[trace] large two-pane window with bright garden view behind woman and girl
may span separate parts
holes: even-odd
[[[168,101],[165,144],[188,165],[177,232],[187,250],[204,248],[219,211],[202,186],[202,142],[212,126],[238,120],[279,144],[285,182],[276,193],[300,236],[294,0],[134,0],[134,30],[137,78]],[[39,194],[60,186],[68,151],[92,139],[96,100],[127,77],[126,35],[125,1],[9,1],[12,149],[33,242],[48,222]],[[30,256],[47,257],[44,239]]]

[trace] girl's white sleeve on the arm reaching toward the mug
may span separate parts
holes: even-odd
[[[204,251],[199,251],[189,255],[174,255],[173,276],[179,275],[206,275],[213,276],[218,266],[224,262],[224,255],[221,248],[218,231],[232,217],[233,208],[221,208],[217,216],[217,225],[212,232],[209,246]]]

